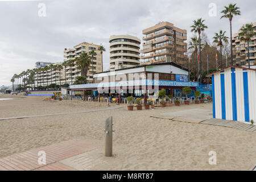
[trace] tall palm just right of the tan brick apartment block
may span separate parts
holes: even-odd
[[[202,20],[202,18],[199,18],[197,20],[193,20],[193,25],[191,26],[191,32],[197,32],[199,35],[199,59],[200,59],[200,81],[201,81],[201,77],[202,77],[202,60],[201,60],[201,32],[203,32],[205,30],[205,28],[208,28],[207,26],[205,26],[204,24],[204,19]]]

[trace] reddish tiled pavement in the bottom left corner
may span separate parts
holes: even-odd
[[[0,171],[75,170],[63,163],[59,163],[59,161],[93,150],[94,148],[89,142],[68,140],[0,158]],[[38,164],[39,151],[46,152],[46,164]]]

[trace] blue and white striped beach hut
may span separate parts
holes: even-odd
[[[256,69],[230,66],[210,73],[213,118],[256,123]]]

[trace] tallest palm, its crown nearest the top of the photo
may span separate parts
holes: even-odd
[[[224,15],[222,18],[228,18],[230,24],[230,52],[231,52],[231,65],[233,65],[233,50],[232,50],[232,19],[234,15],[241,15],[240,7],[236,6],[237,4],[229,4],[229,6],[224,6],[224,10],[221,11]]]

